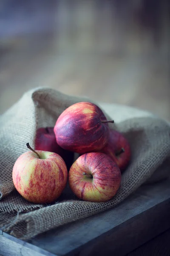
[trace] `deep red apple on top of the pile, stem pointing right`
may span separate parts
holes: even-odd
[[[102,110],[90,102],[71,105],[54,126],[60,147],[76,153],[102,149],[108,142],[108,122]]]

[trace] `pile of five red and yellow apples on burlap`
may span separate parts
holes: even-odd
[[[109,128],[109,122],[113,121],[97,105],[79,102],[62,112],[54,128],[39,128],[35,150],[27,143],[31,151],[13,167],[20,195],[33,203],[51,203],[68,180],[74,194],[85,201],[113,198],[130,161],[130,146],[121,133]],[[74,152],[79,157],[73,163]]]

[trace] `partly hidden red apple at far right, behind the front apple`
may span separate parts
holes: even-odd
[[[119,166],[121,172],[130,162],[131,151],[127,139],[118,131],[109,129],[108,143],[100,151],[110,156]]]

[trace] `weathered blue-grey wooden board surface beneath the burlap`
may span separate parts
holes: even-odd
[[[8,240],[42,255],[125,256],[170,228],[170,180],[143,185],[114,209],[50,230],[29,241],[0,235],[0,254],[12,254]],[[11,241],[11,242],[10,242]],[[13,247],[15,248],[15,247]],[[5,251],[6,250],[6,251]],[[22,254],[17,254],[22,255]],[[30,255],[30,254],[23,254]],[[37,254],[39,255],[39,254]]]

